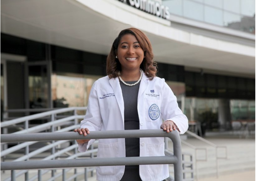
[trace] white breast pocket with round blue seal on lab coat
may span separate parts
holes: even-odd
[[[145,119],[147,122],[157,124],[161,117],[161,102],[154,98],[145,98]]]

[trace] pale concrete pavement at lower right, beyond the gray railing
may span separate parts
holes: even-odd
[[[255,181],[255,138],[245,139],[239,138],[239,136],[233,135],[232,132],[210,132],[204,137],[208,141],[216,144],[217,146],[226,146],[227,147],[227,159],[218,160],[218,170],[219,170],[219,179],[227,179],[229,181],[234,178],[234,174],[238,174],[235,178],[239,178],[240,174],[246,179],[237,179],[237,181]],[[198,177],[199,181],[213,181],[216,180],[216,151],[215,148],[206,144],[198,139],[188,137],[185,140],[189,144],[192,144],[197,148],[206,148],[207,149],[207,161],[194,161],[194,167],[198,168]],[[172,150],[172,144],[169,143],[168,147]],[[182,152],[191,153],[195,156],[195,151],[192,148],[182,144]],[[218,149],[218,156],[225,157],[225,149]],[[205,152],[198,150],[197,158],[204,159]],[[195,157],[194,157],[195,158]],[[247,171],[249,171],[249,176],[247,176]],[[244,175],[243,175],[244,173]],[[195,169],[195,178],[196,178],[196,169]],[[254,175],[253,177],[251,175]],[[249,177],[249,178],[248,178]],[[207,179],[211,180],[207,180]],[[235,179],[236,180],[236,179]],[[222,180],[216,180],[222,181]]]

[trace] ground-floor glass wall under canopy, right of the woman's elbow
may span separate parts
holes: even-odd
[[[255,100],[229,100],[230,121],[255,121]],[[218,128],[220,99],[185,98],[184,114],[189,121],[207,124],[207,129]],[[226,120],[227,121],[227,120]]]

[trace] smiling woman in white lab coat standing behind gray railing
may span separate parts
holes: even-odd
[[[156,77],[151,43],[136,28],[122,30],[107,57],[107,75],[90,92],[84,120],[77,131],[145,130],[187,131],[187,117],[164,79]],[[164,120],[164,122],[162,121]],[[77,140],[85,152],[94,140]],[[163,156],[164,138],[100,139],[98,158]],[[97,180],[161,181],[169,177],[168,165],[99,166]]]

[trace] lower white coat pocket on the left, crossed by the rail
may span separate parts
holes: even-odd
[[[98,145],[97,158],[114,158],[118,157],[118,142]],[[98,166],[96,171],[100,175],[114,175],[118,170],[118,166]]]

